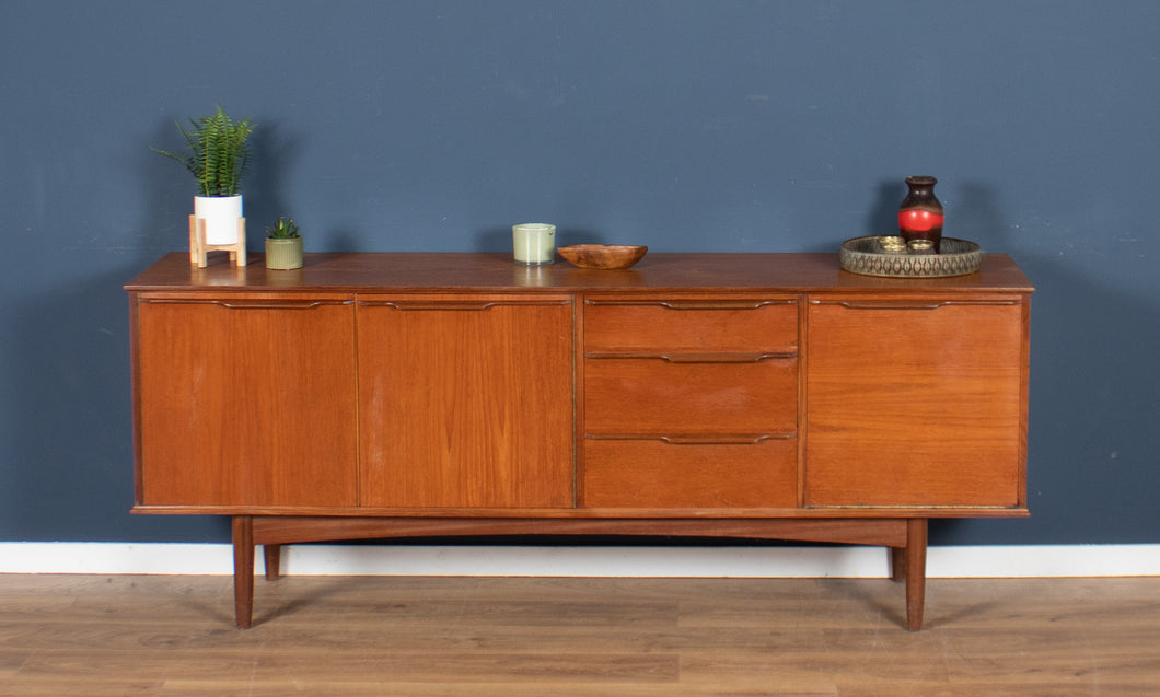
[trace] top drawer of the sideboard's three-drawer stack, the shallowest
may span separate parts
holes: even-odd
[[[796,296],[776,298],[587,297],[586,353],[796,353]]]

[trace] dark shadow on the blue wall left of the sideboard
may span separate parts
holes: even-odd
[[[146,262],[147,263],[147,262]],[[131,516],[133,446],[128,298],[145,263],[45,289],[20,308],[6,361],[12,487],[0,530],[21,540],[229,540],[212,518]]]

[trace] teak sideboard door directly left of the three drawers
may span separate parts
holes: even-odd
[[[568,296],[360,296],[361,500],[571,507]]]

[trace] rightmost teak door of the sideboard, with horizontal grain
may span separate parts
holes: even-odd
[[[1022,297],[811,297],[806,506],[1025,506]]]

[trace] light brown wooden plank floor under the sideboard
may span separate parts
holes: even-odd
[[[0,575],[0,695],[1160,695],[1160,578]]]

